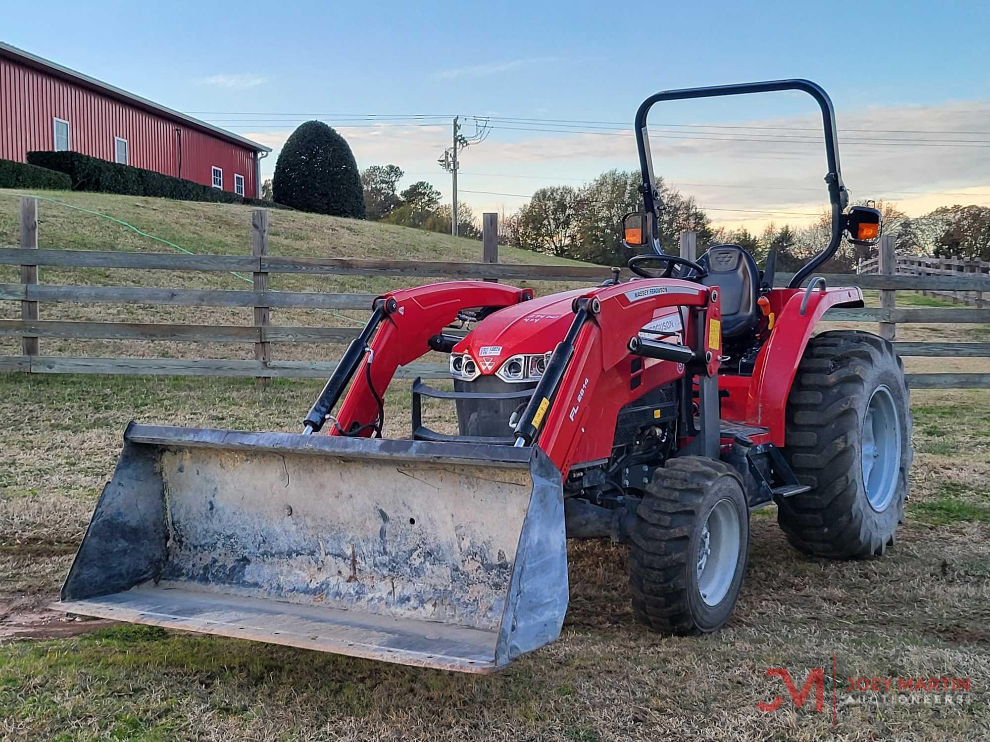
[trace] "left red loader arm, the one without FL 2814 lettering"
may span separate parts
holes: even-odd
[[[475,307],[509,307],[532,298],[533,292],[529,289],[484,281],[428,284],[379,297],[375,304],[382,308],[383,316],[367,344],[367,352],[359,348],[360,352],[353,358],[351,374],[354,381],[337,415],[340,427],[331,426],[330,434],[344,435],[347,433],[342,430],[356,429],[360,430],[354,433],[356,435],[372,435],[369,423],[379,412],[375,396],[379,399],[384,396],[399,366],[412,363],[429,352],[430,338],[453,323],[459,312]],[[330,405],[327,411],[332,407]]]

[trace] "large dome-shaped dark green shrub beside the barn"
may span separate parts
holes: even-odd
[[[272,178],[275,201],[304,212],[364,219],[364,192],[347,139],[308,121],[285,142]]]

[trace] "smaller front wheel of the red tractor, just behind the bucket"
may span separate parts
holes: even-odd
[[[708,633],[729,619],[749,557],[749,509],[730,466],[684,456],[657,469],[636,513],[630,586],[655,631]]]

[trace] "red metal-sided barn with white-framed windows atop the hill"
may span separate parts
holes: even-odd
[[[71,149],[260,198],[269,147],[0,43],[0,159]]]

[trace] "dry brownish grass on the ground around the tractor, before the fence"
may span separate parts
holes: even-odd
[[[316,382],[0,379],[0,593],[10,601],[57,590],[129,418],[295,429],[318,391]],[[406,432],[408,402],[408,384],[398,385],[387,400],[390,435]],[[629,608],[625,547],[574,542],[560,640],[494,677],[120,626],[0,646],[0,737],[990,738],[990,523],[941,508],[960,499],[990,508],[990,394],[916,392],[914,405],[919,454],[897,546],[875,561],[810,559],[786,543],[772,508],[758,510],[742,600],[712,636],[644,632]],[[964,705],[942,707],[840,688],[835,729],[811,705],[756,709],[787,699],[767,668],[788,668],[799,685],[809,668],[831,678],[833,653],[840,686],[849,676],[947,675],[972,678],[972,690]],[[830,703],[831,694],[829,680]]]

